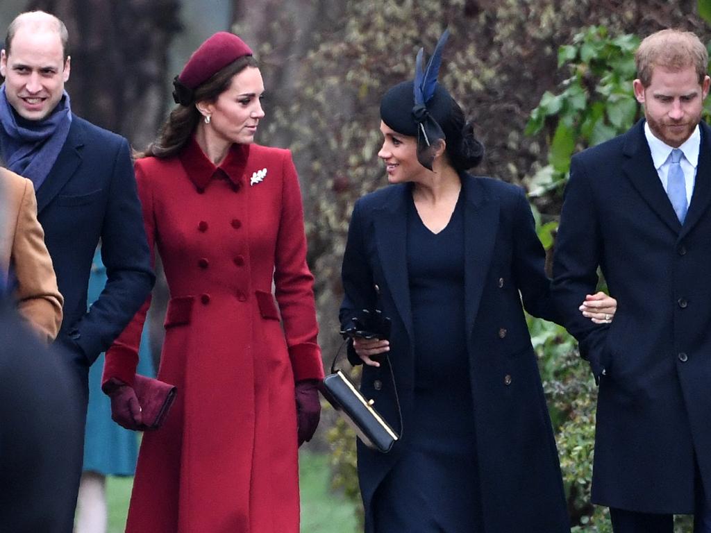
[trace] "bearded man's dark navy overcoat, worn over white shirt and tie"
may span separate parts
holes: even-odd
[[[572,159],[554,294],[599,376],[592,497],[601,505],[693,513],[695,461],[711,497],[711,129],[700,128],[683,226],[643,120]],[[569,308],[594,290],[598,266],[618,302],[609,326]]]

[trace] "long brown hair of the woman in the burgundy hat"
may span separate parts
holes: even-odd
[[[228,90],[235,74],[247,67],[257,67],[257,65],[257,60],[251,55],[243,55],[222,70],[215,72],[210,79],[198,85],[194,92],[193,103],[178,104],[173,108],[166,122],[161,126],[158,137],[144,151],[136,152],[134,158],[153,156],[164,159],[177,155],[190,139],[198,122],[203,119],[195,102],[215,102],[223,92]]]

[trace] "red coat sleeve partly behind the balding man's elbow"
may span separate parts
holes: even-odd
[[[136,178],[148,248],[150,250],[150,261],[151,266],[153,266],[155,264],[154,243],[156,241],[154,203],[149,176],[146,176],[144,173],[140,161],[136,164]],[[102,386],[112,378],[129,385],[133,384],[134,377],[136,376],[136,368],[138,366],[141,333],[143,332],[144,323],[146,322],[146,313],[148,313],[150,306],[151,294],[149,293],[141,308],[139,308],[121,335],[114,340],[111,348],[107,350]]]

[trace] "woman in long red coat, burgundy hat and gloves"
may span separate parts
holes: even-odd
[[[144,435],[127,532],[296,533],[297,447],[324,375],[299,181],[289,151],[253,144],[264,86],[240,38],[210,37],[174,85],[136,177],[171,294],[159,379],[178,399]],[[134,429],[148,306],[104,373],[114,419]]]

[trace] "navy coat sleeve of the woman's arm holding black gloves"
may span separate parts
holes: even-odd
[[[341,281],[343,282],[343,302],[338,312],[341,328],[345,328],[355,313],[362,309],[374,309],[378,295],[373,289],[373,274],[370,271],[368,257],[365,254],[363,233],[363,215],[361,202],[353,207],[351,223],[348,225],[346,250],[343,252]],[[348,340],[348,360],[351,365],[360,365],[363,361],[353,350],[353,341]]]

